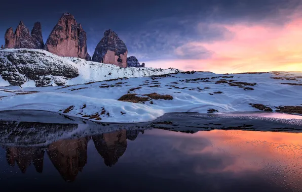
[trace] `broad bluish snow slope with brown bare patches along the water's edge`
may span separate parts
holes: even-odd
[[[81,70],[86,68],[79,67]],[[89,79],[75,78],[72,83],[85,78]],[[302,73],[195,72],[57,87],[10,86],[0,88],[0,111],[45,110],[93,121],[125,123],[150,121],[170,112],[281,110],[302,114],[301,85]]]

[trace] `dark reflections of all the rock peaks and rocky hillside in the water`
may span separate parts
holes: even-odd
[[[48,133],[51,130],[58,129],[71,130],[72,127],[78,127],[77,124],[51,124],[51,123],[18,123],[18,122],[0,122],[2,131],[0,135],[11,140],[22,140],[30,135],[41,136],[40,133]],[[48,130],[44,130],[48,129]],[[79,171],[81,172],[87,163],[87,146],[90,139],[93,140],[98,153],[104,159],[105,165],[111,167],[115,165],[119,158],[125,153],[127,148],[127,139],[134,140],[142,130],[124,130],[85,136],[82,138],[60,139],[50,143],[47,146],[7,146],[6,159],[9,165],[17,165],[22,173],[26,172],[31,163],[39,173],[43,172],[43,161],[45,151],[52,164],[58,170],[63,179],[67,182],[74,181]],[[26,140],[29,140],[29,139]],[[34,139],[33,139],[34,140]],[[22,143],[22,142],[21,142]],[[28,141],[26,141],[28,143]],[[40,143],[40,140],[39,140]],[[35,144],[33,142],[33,144]]]

